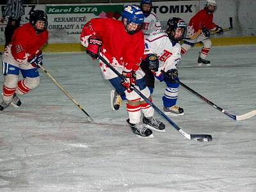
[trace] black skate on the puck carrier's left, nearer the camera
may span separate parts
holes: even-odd
[[[138,124],[131,124],[129,122],[129,119],[127,119],[127,123],[129,124],[132,132],[136,134],[136,136],[141,137],[141,138],[154,138],[152,131],[150,129],[147,129],[143,124],[138,123]]]

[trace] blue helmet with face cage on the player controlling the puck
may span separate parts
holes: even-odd
[[[143,26],[143,12],[141,12],[141,9],[136,5],[126,5],[122,11],[122,21],[127,33],[133,35],[137,31],[140,31]]]

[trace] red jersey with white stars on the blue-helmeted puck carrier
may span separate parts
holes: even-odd
[[[97,18],[90,20],[83,27],[81,43],[86,47],[90,35],[97,35],[102,39],[101,54],[108,58],[111,65],[138,70],[144,52],[142,31],[129,35],[122,20]]]

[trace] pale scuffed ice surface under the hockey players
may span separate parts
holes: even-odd
[[[199,51],[182,58],[180,81],[228,113],[256,109],[256,45],[212,47],[212,67],[195,67]],[[41,71],[22,106],[0,113],[0,191],[256,191],[256,116],[234,121],[180,87],[185,115],[171,119],[212,141],[185,139],[157,112],[166,132],[146,140],[126,124],[124,103],[111,111],[112,87],[98,61],[45,53],[43,66],[94,121]],[[157,82],[152,95],[160,109],[164,88]]]

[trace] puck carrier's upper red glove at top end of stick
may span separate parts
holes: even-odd
[[[88,38],[88,47],[86,49],[86,53],[90,55],[93,60],[97,60],[99,58],[101,46],[102,40],[99,38],[99,36],[90,36]]]

